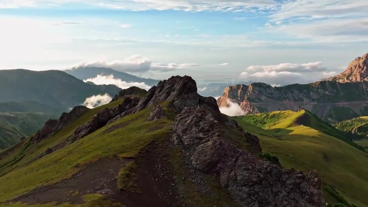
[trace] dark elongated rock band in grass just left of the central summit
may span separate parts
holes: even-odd
[[[124,99],[123,103],[113,108],[102,109],[101,111],[96,113],[95,116],[93,116],[88,123],[78,127],[78,129],[74,131],[74,134],[72,135],[73,140],[83,138],[88,134],[91,134],[93,131],[96,131],[105,126],[110,120],[114,119],[117,116],[121,116],[122,113],[127,112],[129,109],[137,106],[140,99],[141,98],[139,97],[127,97]],[[132,110],[130,112],[132,112]]]

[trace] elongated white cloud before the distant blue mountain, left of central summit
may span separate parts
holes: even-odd
[[[94,78],[88,78],[86,80],[83,80],[84,82],[88,82],[91,81],[92,83],[96,84],[96,85],[109,85],[109,84],[113,84],[116,85],[117,87],[121,88],[121,89],[126,89],[126,88],[130,88],[132,86],[136,86],[138,88],[142,88],[145,90],[149,90],[151,88],[151,86],[145,84],[145,83],[138,83],[138,82],[125,82],[122,81],[120,78],[115,78],[113,75],[109,75],[109,76],[103,76],[103,75],[98,75]]]

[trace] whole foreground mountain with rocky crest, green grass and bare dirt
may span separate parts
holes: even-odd
[[[1,151],[0,206],[325,206],[317,171],[269,161],[191,77],[130,91]]]

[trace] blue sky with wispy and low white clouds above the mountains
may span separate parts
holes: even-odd
[[[0,69],[308,83],[368,52],[365,8],[367,0],[0,0]]]

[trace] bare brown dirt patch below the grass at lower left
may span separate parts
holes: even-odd
[[[12,202],[28,204],[45,203],[84,203],[81,196],[90,193],[115,194],[118,191],[116,176],[120,168],[131,159],[117,157],[103,158],[87,164],[71,178],[61,180],[53,185],[40,186]],[[78,168],[79,166],[74,166]],[[111,196],[114,197],[114,196]]]

